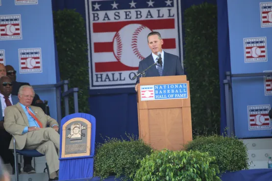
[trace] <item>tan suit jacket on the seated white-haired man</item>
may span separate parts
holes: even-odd
[[[30,106],[36,117],[43,124],[43,128],[58,125],[57,121],[51,118],[49,115],[45,114],[44,111],[36,106]],[[26,134],[22,134],[25,126],[29,126],[28,119],[26,117],[25,111],[18,102],[16,105],[8,106],[5,108],[5,118],[4,118],[4,128],[5,130],[14,136],[16,141],[16,149],[22,150],[25,147]],[[9,149],[13,149],[13,138],[10,141]]]

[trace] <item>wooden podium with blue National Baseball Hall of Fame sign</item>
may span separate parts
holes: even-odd
[[[141,77],[137,100],[139,137],[153,149],[181,150],[193,139],[186,75]]]

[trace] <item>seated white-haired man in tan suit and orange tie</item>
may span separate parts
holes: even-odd
[[[44,154],[49,166],[49,181],[57,181],[60,149],[58,123],[41,108],[30,106],[34,95],[35,92],[31,86],[20,87],[19,102],[5,108],[4,128],[14,136],[16,149],[36,149]],[[49,124],[48,128],[47,124]],[[13,138],[9,148],[14,148]]]

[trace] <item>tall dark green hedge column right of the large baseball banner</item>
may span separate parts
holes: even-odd
[[[217,6],[193,5],[184,18],[184,69],[190,81],[193,133],[220,133]]]

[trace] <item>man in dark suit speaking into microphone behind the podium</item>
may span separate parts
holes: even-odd
[[[178,56],[165,52],[162,49],[163,39],[159,32],[151,32],[148,34],[148,46],[152,53],[140,61],[138,73],[144,71],[146,68],[158,61],[158,52],[161,53],[162,66],[154,65],[149,68],[143,77],[156,77],[156,76],[171,76],[171,75],[184,75],[181,61]],[[140,75],[141,76],[141,75]],[[138,84],[140,76],[137,77],[135,91],[138,91]]]

